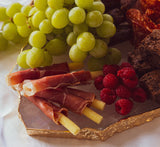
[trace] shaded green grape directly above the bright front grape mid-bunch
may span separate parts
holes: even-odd
[[[81,24],[74,24],[73,25],[73,32],[77,34],[81,34],[83,32],[88,32],[88,26],[86,23],[81,23]]]

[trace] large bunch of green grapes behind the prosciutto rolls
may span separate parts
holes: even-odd
[[[110,64],[120,61],[120,54],[113,57],[108,48],[116,27],[112,16],[104,14],[101,1],[34,0],[33,5],[14,3],[3,10],[0,8],[1,11],[0,20],[4,25],[0,39],[12,41],[20,36],[27,38],[31,45],[30,50],[21,52],[17,58],[23,68],[50,65],[53,56],[65,54],[67,49],[72,62],[84,62],[90,56],[91,70],[92,58],[95,61],[107,58]]]

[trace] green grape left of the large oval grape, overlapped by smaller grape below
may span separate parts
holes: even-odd
[[[35,28],[39,28],[39,24],[45,19],[45,13],[43,11],[37,11],[32,16],[32,24]]]

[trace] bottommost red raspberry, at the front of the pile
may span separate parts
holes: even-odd
[[[131,112],[133,102],[129,99],[119,99],[115,103],[116,111],[121,115],[127,115]]]

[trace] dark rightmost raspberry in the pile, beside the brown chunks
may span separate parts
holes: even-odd
[[[136,102],[143,103],[147,99],[147,94],[142,88],[138,87],[133,91],[132,98]]]

